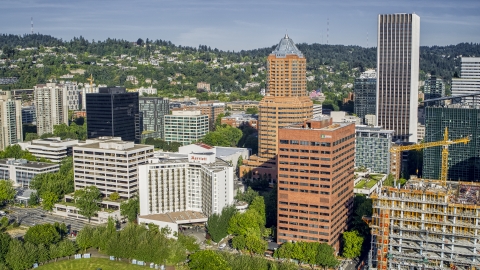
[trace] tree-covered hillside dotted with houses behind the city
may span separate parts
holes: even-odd
[[[376,48],[360,46],[297,44],[307,58],[307,90],[322,88],[327,100],[341,101],[351,91],[356,76],[376,67]],[[89,41],[83,37],[70,41],[49,35],[0,35],[0,77],[17,77],[15,85],[0,89],[32,88],[37,83],[73,80],[86,83],[90,74],[98,84],[127,88],[150,86],[161,96],[201,96],[197,82],[211,84],[212,91],[233,96],[219,99],[261,98],[265,87],[266,57],[275,45],[239,52],[175,45],[170,41],[106,39]],[[435,72],[447,85],[459,74],[461,56],[480,56],[480,44],[460,43],[450,46],[420,47],[420,80]],[[134,77],[133,80],[127,78]],[[249,91],[241,91],[247,90]],[[256,91],[256,92],[255,92]]]

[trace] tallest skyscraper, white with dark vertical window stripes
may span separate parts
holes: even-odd
[[[378,15],[377,125],[417,142],[420,17]]]

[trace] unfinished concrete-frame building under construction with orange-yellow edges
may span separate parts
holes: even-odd
[[[412,179],[371,198],[369,269],[480,269],[480,183]]]

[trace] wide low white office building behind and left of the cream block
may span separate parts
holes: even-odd
[[[64,158],[72,156],[72,148],[78,144],[78,140],[62,140],[60,137],[19,143],[23,150],[28,150],[35,157],[46,158],[55,163],[60,163]]]

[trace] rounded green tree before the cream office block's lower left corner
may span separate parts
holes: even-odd
[[[88,222],[100,210],[101,195],[100,190],[96,186],[89,186],[75,191],[75,205],[78,207],[78,212],[88,218]]]

